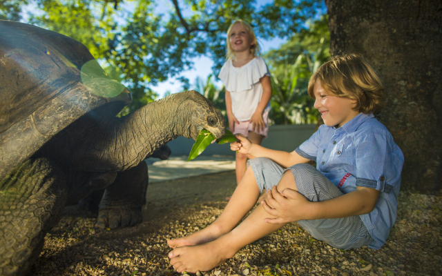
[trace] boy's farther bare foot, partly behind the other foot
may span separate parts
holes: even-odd
[[[227,232],[227,231],[225,231]],[[218,227],[216,224],[211,224],[206,228],[192,233],[186,237],[179,237],[177,239],[169,239],[167,244],[171,248],[177,248],[181,246],[196,246],[198,244],[205,244],[206,242],[211,242],[218,239],[224,234],[222,228]]]

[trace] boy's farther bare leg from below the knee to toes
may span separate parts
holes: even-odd
[[[251,208],[256,204],[256,199],[260,195],[258,184],[251,167],[247,168],[240,184],[236,187],[226,208],[218,219],[206,228],[195,232],[189,236],[168,240],[171,248],[180,246],[193,246],[205,242],[211,242],[221,235],[228,233],[240,222]]]

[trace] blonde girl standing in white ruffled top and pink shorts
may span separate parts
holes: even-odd
[[[226,87],[226,108],[229,128],[234,134],[261,144],[269,132],[271,97],[270,74],[258,57],[259,46],[251,26],[237,20],[227,30],[227,61],[218,77]],[[236,153],[236,183],[246,171],[247,155]],[[229,198],[228,198],[229,199]]]

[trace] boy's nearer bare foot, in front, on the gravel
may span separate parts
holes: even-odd
[[[175,248],[169,253],[169,258],[171,258],[171,264],[178,273],[183,271],[196,273],[198,270],[211,270],[233,255],[235,253],[228,253],[225,246],[214,241],[198,246]]]

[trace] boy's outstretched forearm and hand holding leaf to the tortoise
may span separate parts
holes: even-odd
[[[286,152],[282,150],[271,150],[257,144],[252,144],[249,139],[244,137],[244,135],[236,135],[236,138],[239,141],[234,141],[230,144],[231,150],[238,150],[238,152],[249,154],[253,157],[267,157],[283,168],[310,161],[309,159],[298,155],[296,151]]]

